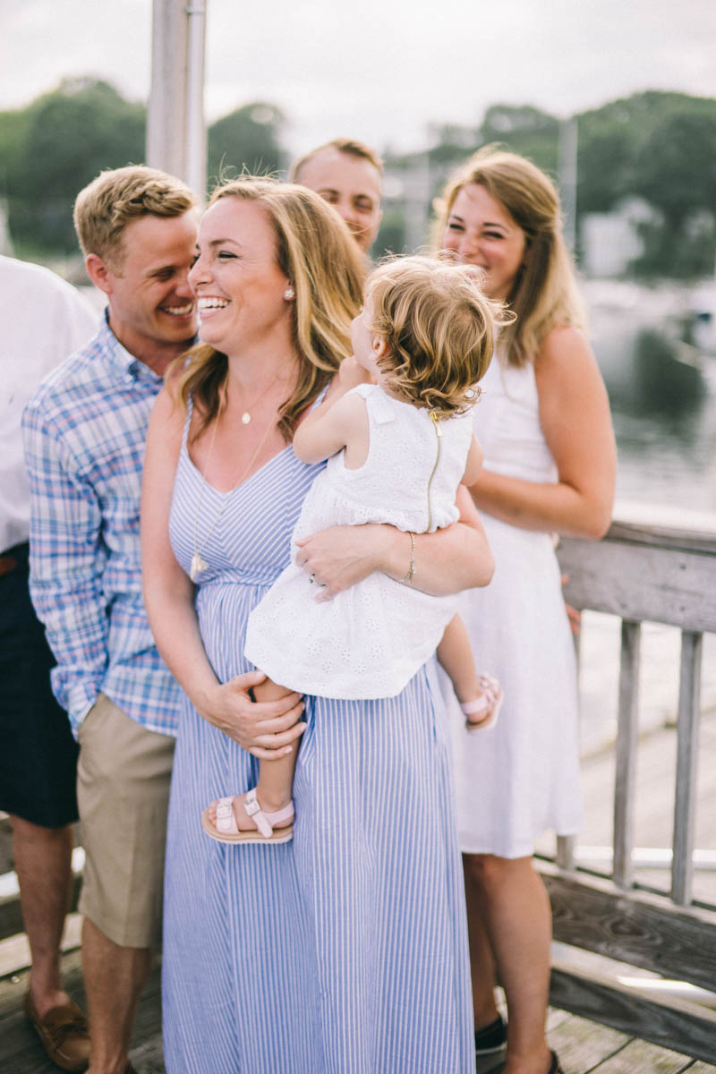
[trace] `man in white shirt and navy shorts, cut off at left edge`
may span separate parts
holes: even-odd
[[[0,809],[10,814],[32,967],[27,1017],[64,1070],[89,1060],[87,1021],[62,988],[60,941],[72,882],[77,745],[53,696],[55,661],[30,601],[30,492],[23,407],[97,330],[99,315],[40,265],[0,257]]]

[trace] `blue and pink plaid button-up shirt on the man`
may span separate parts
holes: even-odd
[[[105,319],[42,381],[23,418],[30,591],[75,734],[100,691],[149,730],[176,731],[179,686],[142,599],[142,465],[161,387]]]

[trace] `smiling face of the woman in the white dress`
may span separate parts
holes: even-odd
[[[506,301],[525,263],[526,236],[500,202],[470,183],[457,193],[441,236],[444,250],[485,271],[483,290]]]

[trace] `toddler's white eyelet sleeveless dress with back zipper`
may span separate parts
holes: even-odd
[[[471,413],[440,421],[438,441],[427,410],[377,384],[353,391],[366,403],[368,456],[357,469],[346,467],[342,451],[328,460],[304,500],[294,541],[332,525],[386,522],[427,533],[455,522]],[[406,562],[407,551],[406,541]],[[292,553],[293,561],[295,545]],[[292,562],[249,615],[244,652],[274,682],[334,698],[399,694],[433,656],[457,606],[456,597],[429,596],[380,572],[331,601],[316,596]]]

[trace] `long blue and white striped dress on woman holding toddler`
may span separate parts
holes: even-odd
[[[224,495],[204,488],[196,542],[210,566],[196,609],[222,681],[250,669],[248,613],[287,564],[319,470],[287,448],[225,494],[216,525]],[[170,529],[186,570],[201,488],[185,442]],[[307,697],[305,719],[293,841],[231,846],[206,838],[201,811],[253,786],[258,765],[184,700],[166,856],[166,1070],[472,1072],[463,877],[440,699],[423,668],[397,697]]]

